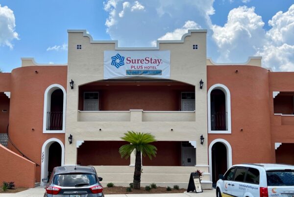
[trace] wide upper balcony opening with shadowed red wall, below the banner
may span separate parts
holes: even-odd
[[[173,80],[101,80],[79,86],[80,111],[195,111],[195,86]]]

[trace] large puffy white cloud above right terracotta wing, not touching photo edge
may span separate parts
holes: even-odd
[[[240,54],[253,55],[265,42],[263,26],[264,22],[261,16],[254,12],[254,7],[242,6],[232,9],[224,26],[212,25],[212,38],[220,52],[217,61],[238,62]]]

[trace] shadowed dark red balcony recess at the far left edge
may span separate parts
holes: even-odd
[[[6,133],[8,121],[9,121],[9,98],[0,93],[0,133]],[[7,110],[3,112],[3,110]]]

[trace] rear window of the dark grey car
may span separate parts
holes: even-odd
[[[95,174],[57,174],[53,184],[62,187],[82,187],[97,183]]]

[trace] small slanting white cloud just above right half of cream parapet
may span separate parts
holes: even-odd
[[[181,40],[182,36],[188,33],[188,29],[201,29],[201,26],[196,24],[195,21],[186,21],[182,28],[177,28],[172,32],[168,32],[157,40]],[[156,47],[156,41],[153,40],[151,45]]]

